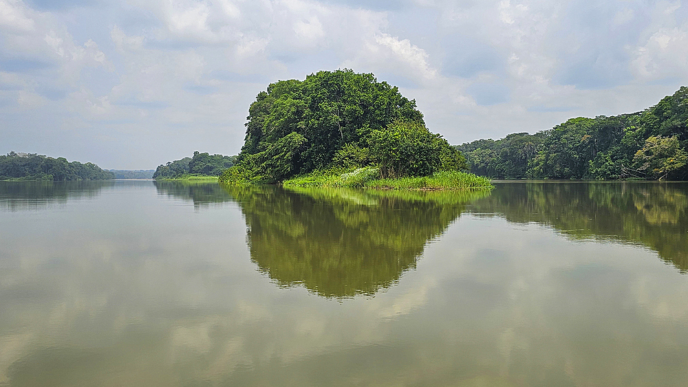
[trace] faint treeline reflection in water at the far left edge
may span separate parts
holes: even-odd
[[[93,199],[114,184],[111,180],[0,181],[0,210],[35,210],[71,199]]]

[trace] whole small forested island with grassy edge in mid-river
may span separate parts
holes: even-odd
[[[373,74],[319,71],[281,80],[249,109],[227,184],[292,187],[491,188],[461,153],[431,133],[416,101]]]

